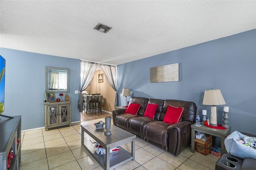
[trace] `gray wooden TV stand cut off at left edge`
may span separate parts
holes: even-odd
[[[13,119],[0,117],[0,170],[18,170],[20,166],[21,150],[21,116]],[[8,168],[8,154],[13,153],[10,168]]]

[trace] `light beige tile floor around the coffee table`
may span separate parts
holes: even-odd
[[[86,121],[92,124],[104,119]],[[112,125],[114,126],[114,125]],[[90,137],[85,135],[90,141]],[[130,160],[115,170],[215,170],[218,158],[192,153],[190,147],[174,156],[148,142],[136,138],[135,161]],[[122,145],[130,151],[130,144]],[[81,127],[60,127],[22,132],[20,170],[102,170],[103,168],[81,146]]]

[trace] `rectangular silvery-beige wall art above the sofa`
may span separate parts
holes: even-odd
[[[179,81],[179,63],[150,68],[150,83]]]

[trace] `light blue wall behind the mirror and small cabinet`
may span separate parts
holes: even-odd
[[[4,115],[22,115],[22,130],[44,127],[45,66],[70,69],[71,121],[80,121],[80,60],[0,48],[6,59]],[[58,97],[59,93],[56,93]]]

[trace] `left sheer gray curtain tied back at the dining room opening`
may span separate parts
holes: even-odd
[[[98,63],[92,63],[89,61],[81,61],[80,64],[80,91],[78,98],[78,109],[80,112],[83,112],[83,95],[82,91],[84,91],[92,82],[93,76],[95,74]]]

